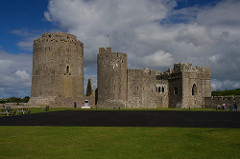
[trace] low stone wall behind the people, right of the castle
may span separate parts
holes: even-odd
[[[218,105],[222,106],[223,103],[227,107],[233,106],[234,103],[240,104],[240,96],[213,96],[204,98],[205,108],[216,108]]]

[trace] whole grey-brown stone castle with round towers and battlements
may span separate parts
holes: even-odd
[[[209,67],[176,63],[166,72],[128,69],[127,54],[99,48],[97,89],[84,94],[84,44],[69,33],[44,33],[34,40],[29,105],[98,108],[199,108],[211,97]]]

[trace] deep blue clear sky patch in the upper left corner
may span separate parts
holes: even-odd
[[[44,20],[44,11],[47,10],[48,0],[1,0],[1,38],[2,49],[9,53],[20,53],[17,43],[22,40],[22,36],[13,33],[14,30],[26,30],[27,32],[49,31],[51,23]],[[24,50],[26,52],[26,50]],[[32,53],[32,51],[28,51]]]

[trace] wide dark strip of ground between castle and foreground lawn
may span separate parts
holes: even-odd
[[[58,111],[0,117],[0,125],[240,128],[240,113],[206,111]]]

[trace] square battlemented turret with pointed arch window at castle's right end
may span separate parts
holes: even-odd
[[[176,63],[169,78],[169,105],[173,108],[199,108],[211,96],[209,67]]]

